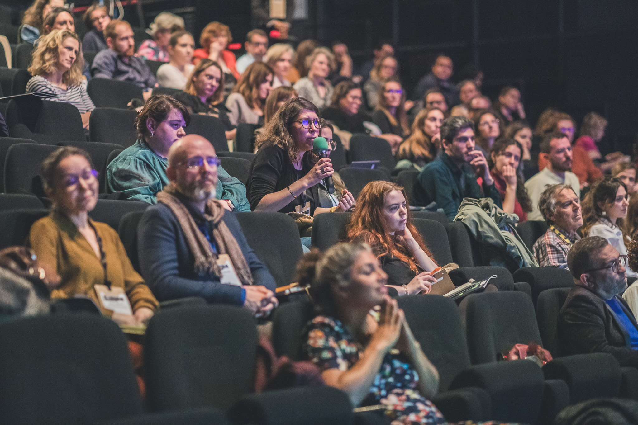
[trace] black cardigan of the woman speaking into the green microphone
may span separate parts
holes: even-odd
[[[302,175],[309,173],[310,169],[315,166],[312,151],[304,154],[301,170]],[[274,145],[261,147],[253,158],[248,170],[248,182],[246,183],[246,194],[250,202],[250,209],[255,208],[267,194],[279,192],[297,181],[297,174],[288,152]],[[292,199],[292,195],[290,196]],[[310,215],[315,214],[315,208],[320,205],[318,184],[308,189],[303,194],[292,199],[288,205],[284,206],[279,212],[294,212],[295,206],[303,205],[310,202]]]

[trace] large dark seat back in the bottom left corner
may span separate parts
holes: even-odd
[[[19,342],[19,343],[16,343]],[[84,425],[144,413],[126,337],[85,313],[0,324],[0,417],[10,424]]]

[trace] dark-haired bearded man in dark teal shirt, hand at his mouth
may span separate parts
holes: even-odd
[[[449,220],[454,219],[463,198],[501,197],[489,173],[487,159],[475,149],[474,124],[466,117],[450,117],[441,125],[443,152],[419,173],[414,186],[417,205],[436,202]],[[482,178],[482,186],[477,178]]]

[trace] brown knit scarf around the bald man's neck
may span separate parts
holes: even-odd
[[[219,270],[217,265],[217,254],[212,251],[211,244],[206,239],[206,236],[197,227],[191,213],[188,212],[182,201],[175,196],[175,193],[179,193],[179,191],[174,185],[169,184],[163,191],[158,193],[158,202],[168,205],[168,208],[177,217],[177,221],[186,235],[188,247],[193,256],[195,256],[195,273],[198,276],[213,274],[221,278],[221,270]],[[228,226],[221,219],[224,212],[225,209],[219,205],[219,201],[209,199],[204,209],[204,217],[214,224],[212,236],[219,247],[219,254],[228,254],[242,285],[252,285],[253,275],[250,272],[248,263],[246,263],[246,258],[241,252],[235,236],[230,233]]]

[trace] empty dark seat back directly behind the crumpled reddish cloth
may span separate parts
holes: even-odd
[[[465,325],[472,364],[497,361],[514,344],[542,345],[534,306],[523,292],[469,295]]]

